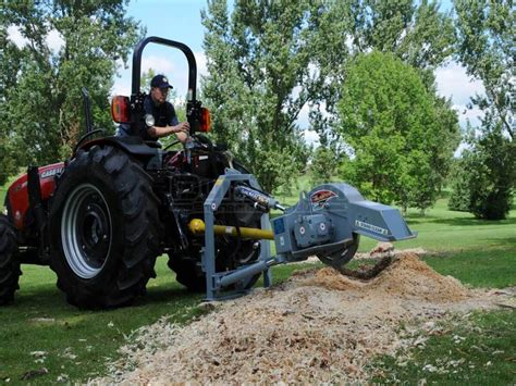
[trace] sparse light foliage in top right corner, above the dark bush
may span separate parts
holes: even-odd
[[[455,1],[457,57],[469,75],[482,80],[486,95],[472,98],[486,120],[514,139],[516,94],[516,15],[513,1]]]

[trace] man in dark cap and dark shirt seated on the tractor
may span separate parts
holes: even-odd
[[[139,129],[144,140],[158,140],[158,138],[175,134],[181,142],[188,138],[188,122],[179,122],[172,103],[167,101],[169,89],[172,86],[163,75],[156,75],[150,82],[150,95],[144,99],[145,124]],[[120,125],[116,135],[128,135],[128,125]]]

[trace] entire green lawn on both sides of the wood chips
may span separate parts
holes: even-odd
[[[470,286],[502,288],[516,285],[516,210],[505,221],[483,222],[468,213],[447,211],[443,199],[425,216],[409,211],[407,220],[419,236],[396,244],[397,248],[420,247],[431,251],[432,256],[426,258],[431,266]],[[376,241],[363,238],[360,250],[374,245]],[[274,267],[273,282],[286,278],[298,266]],[[106,361],[116,357],[116,349],[135,328],[153,323],[162,315],[170,315],[176,323],[188,323],[206,312],[197,307],[202,296],[191,295],[175,283],[165,258],[158,260],[158,277],[149,282],[145,298],[131,308],[102,312],[79,311],[67,306],[56,287],[56,275],[49,269],[24,265],[22,270],[21,290],[16,292],[14,304],[0,309],[0,382],[87,381],[106,371]],[[427,349],[415,352],[413,362],[404,368],[390,358],[379,359],[384,373],[376,381],[397,378],[415,384],[426,378],[440,383],[453,383],[452,379],[476,384],[509,383],[507,379],[514,381],[516,376],[511,373],[516,358],[515,316],[514,311],[471,315],[468,328],[451,326],[442,336],[432,337]],[[454,335],[463,336],[465,340],[452,347],[450,341]],[[480,356],[471,345],[488,354]],[[421,370],[423,364],[437,365],[438,359],[449,351],[449,356],[459,352],[456,350],[465,352],[463,357],[467,364],[464,366],[474,366],[470,372],[464,366],[460,368],[462,375]],[[489,353],[495,351],[502,353],[489,359]],[[489,361],[491,364],[487,365]]]

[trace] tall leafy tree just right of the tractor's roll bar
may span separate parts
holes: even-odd
[[[292,180],[307,147],[296,125],[310,100],[310,1],[208,1],[202,12],[210,75],[202,96],[213,136],[248,163],[266,190]],[[285,173],[288,171],[288,173]]]

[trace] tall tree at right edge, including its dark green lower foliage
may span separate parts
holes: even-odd
[[[471,98],[483,117],[470,140],[469,211],[479,219],[504,219],[516,184],[514,7],[504,0],[457,0],[455,11],[457,58],[486,89]]]

